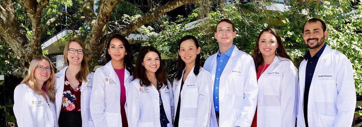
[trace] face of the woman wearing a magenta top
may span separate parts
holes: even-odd
[[[109,44],[108,54],[111,56],[112,61],[123,60],[126,55],[126,48],[123,42],[118,38],[113,38]]]

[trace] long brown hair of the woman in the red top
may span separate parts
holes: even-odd
[[[269,32],[269,33],[273,34],[275,38],[277,38],[278,47],[276,49],[277,54],[275,54],[275,55],[276,56],[281,56],[283,58],[287,58],[287,59],[291,60],[291,58],[287,54],[287,51],[285,50],[285,46],[284,46],[284,43],[282,41],[282,38],[279,36],[277,31],[275,31],[275,29],[273,29],[273,28],[266,28],[266,29],[262,30],[259,33],[258,37],[256,38],[255,47],[254,47],[254,51],[253,51],[253,54],[252,54],[252,57],[254,59],[254,64],[255,64],[256,71],[258,70],[258,67],[261,64],[263,64],[263,62],[264,62],[263,56],[261,55],[261,53],[259,53],[259,39],[260,39],[261,34],[263,34],[264,32]]]

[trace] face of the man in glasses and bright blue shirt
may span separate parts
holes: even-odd
[[[225,29],[229,29],[231,31],[226,31]],[[223,31],[220,31],[223,30]],[[216,26],[216,32],[214,33],[214,37],[219,43],[219,46],[231,46],[232,41],[236,36],[236,32],[233,31],[232,25],[227,22],[220,22]]]

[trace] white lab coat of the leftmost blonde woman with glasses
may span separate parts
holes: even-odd
[[[46,96],[49,101],[49,97]],[[14,90],[14,115],[19,127],[58,127],[55,105],[45,101],[28,85],[20,84]]]

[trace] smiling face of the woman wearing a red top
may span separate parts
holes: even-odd
[[[259,39],[259,50],[262,56],[275,56],[275,50],[278,48],[277,38],[268,31],[261,34]]]

